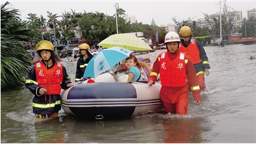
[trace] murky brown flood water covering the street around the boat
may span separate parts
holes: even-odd
[[[152,61],[165,50],[150,53]],[[256,45],[205,47],[211,69],[207,89],[188,115],[150,113],[115,120],[83,120],[60,111],[36,120],[33,95],[1,91],[1,143],[256,143]],[[74,82],[76,61],[63,59]],[[96,88],[99,89],[99,88]]]

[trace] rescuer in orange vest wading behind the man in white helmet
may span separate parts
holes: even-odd
[[[180,52],[186,52],[190,57],[194,64],[198,85],[201,90],[204,90],[206,87],[204,74],[209,75],[209,69],[211,68],[204,47],[200,41],[192,38],[193,32],[189,27],[181,27],[179,34],[182,37],[179,50]]]

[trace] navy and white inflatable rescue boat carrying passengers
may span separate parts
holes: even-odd
[[[95,83],[78,83],[61,92],[61,107],[85,119],[115,119],[163,110],[159,97],[161,83],[117,83],[111,73],[95,78]]]

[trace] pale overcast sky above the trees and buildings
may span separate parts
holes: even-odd
[[[223,1],[223,0],[222,0]],[[6,1],[1,1],[4,4]],[[157,25],[173,24],[172,17],[177,20],[192,18],[204,18],[203,13],[208,15],[220,13],[220,0],[187,0],[187,1],[22,1],[10,0],[13,8],[19,9],[22,20],[27,20],[28,13],[35,13],[37,17],[43,15],[47,19],[47,11],[62,15],[64,11],[75,10],[78,12],[99,11],[105,15],[115,14],[115,3],[125,10],[129,16],[135,15],[138,22],[150,24],[152,18]],[[227,5],[233,10],[242,11],[243,17],[247,17],[247,10],[256,8],[256,0],[227,0]],[[223,3],[222,3],[223,4]],[[221,10],[222,11],[222,10]],[[232,11],[232,10],[230,10]],[[203,12],[203,13],[202,13]]]

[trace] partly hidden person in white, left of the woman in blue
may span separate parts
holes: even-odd
[[[117,67],[117,72],[117,75],[115,75],[115,73],[111,73],[111,75],[113,75],[113,77],[115,78],[116,82],[127,83],[129,78],[129,76],[127,75],[127,66],[125,66],[125,64],[120,64]]]

